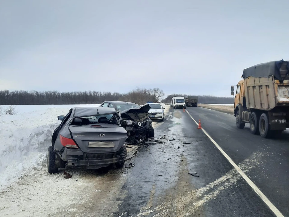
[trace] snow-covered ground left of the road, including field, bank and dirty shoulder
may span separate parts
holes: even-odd
[[[57,115],[66,115],[74,106],[98,105],[17,105],[17,115],[0,116],[0,216],[48,217],[69,213],[88,217],[95,216],[95,212],[84,212],[87,207],[93,207],[100,216],[112,215],[104,207],[118,210],[115,195],[120,200],[123,197],[120,190],[128,179],[125,168],[106,175],[94,170],[68,169],[73,175],[70,179],[64,179],[63,172],[47,171],[47,148],[61,122]],[[169,112],[168,105],[165,112]],[[136,151],[137,146],[128,148],[128,158]]]

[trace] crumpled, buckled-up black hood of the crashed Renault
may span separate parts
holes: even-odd
[[[129,118],[134,121],[144,121],[144,119],[148,118],[148,111],[150,108],[150,105],[143,105],[139,108],[129,108],[121,112],[121,117]]]

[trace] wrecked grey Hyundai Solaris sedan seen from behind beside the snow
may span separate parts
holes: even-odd
[[[48,147],[49,173],[58,168],[98,169],[122,167],[126,160],[126,130],[120,125],[120,111],[114,108],[74,107],[58,116]]]

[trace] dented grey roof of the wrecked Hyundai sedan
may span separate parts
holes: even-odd
[[[98,112],[98,114],[97,114]],[[107,107],[74,107],[73,117],[77,116],[89,116],[89,115],[101,115],[107,113],[116,112],[115,108]]]

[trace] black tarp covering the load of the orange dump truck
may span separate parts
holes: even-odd
[[[283,80],[280,74],[280,67],[284,62],[288,63],[288,61],[282,59],[251,66],[250,68],[244,69],[242,77],[245,79],[250,76],[271,77],[273,75],[276,79]],[[287,65],[287,70],[289,70],[289,64]]]

